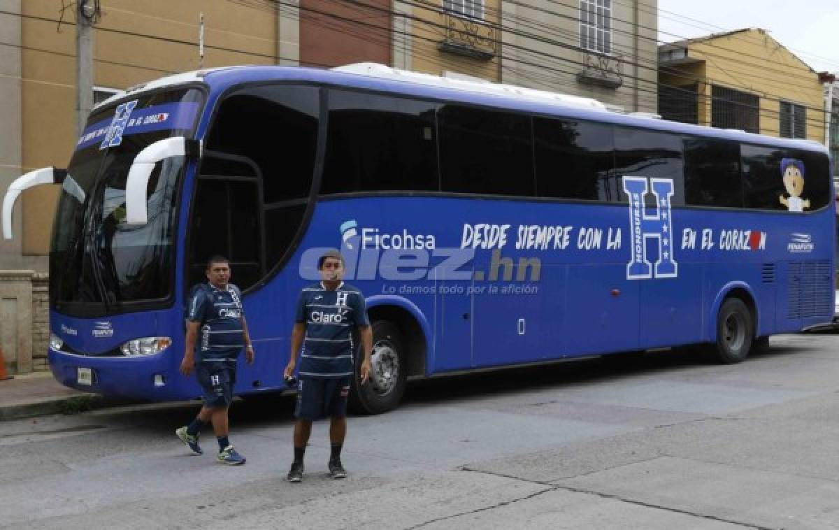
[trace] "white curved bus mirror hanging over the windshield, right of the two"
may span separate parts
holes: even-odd
[[[201,156],[201,143],[176,136],[158,140],[137,153],[131,169],[128,169],[128,179],[125,182],[125,213],[128,225],[138,226],[149,222],[146,189],[154,164],[164,158],[182,156]]]

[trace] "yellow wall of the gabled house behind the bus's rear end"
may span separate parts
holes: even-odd
[[[780,136],[778,100],[783,100],[807,107],[806,136],[824,141],[824,96],[818,75],[762,30],[691,43],[688,55],[705,60],[707,96],[711,96],[711,84],[760,96],[762,134]],[[702,116],[704,123],[711,122],[710,109]]]

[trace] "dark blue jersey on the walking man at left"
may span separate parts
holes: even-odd
[[[245,346],[242,292],[232,283],[216,288],[201,283],[193,288],[187,320],[200,322],[195,361],[235,361]]]

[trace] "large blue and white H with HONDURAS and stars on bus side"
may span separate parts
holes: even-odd
[[[632,227],[630,259],[627,279],[653,278],[652,265],[647,259],[647,239],[659,240],[659,259],[655,262],[655,278],[676,278],[678,263],[673,259],[673,221],[670,218],[670,197],[673,179],[649,179],[655,195],[655,212],[647,215],[644,195],[647,177],[623,177],[623,191],[629,196],[629,226]]]

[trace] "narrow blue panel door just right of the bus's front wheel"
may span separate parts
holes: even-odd
[[[435,269],[435,372],[471,368],[472,279],[439,278],[437,274]]]

